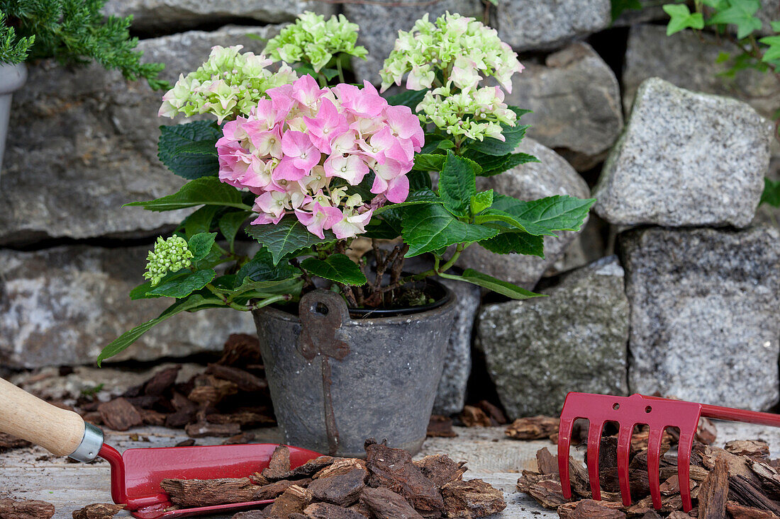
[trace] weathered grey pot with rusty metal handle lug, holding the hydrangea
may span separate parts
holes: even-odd
[[[299,316],[254,311],[286,443],[349,457],[371,437],[420,450],[456,312],[456,296],[438,286],[435,308],[408,315],[353,320],[326,290],[304,295]]]

